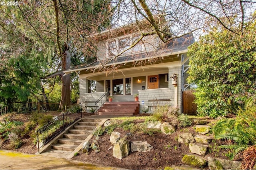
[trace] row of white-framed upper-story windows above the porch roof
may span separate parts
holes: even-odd
[[[134,42],[138,41],[140,35],[136,35],[133,37],[125,37],[122,39],[115,39],[113,41],[108,42],[108,54],[107,57],[114,57],[118,53],[127,54],[132,52],[142,51],[142,42],[136,44],[132,49],[128,49]]]

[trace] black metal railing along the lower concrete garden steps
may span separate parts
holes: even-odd
[[[78,104],[65,113],[53,117],[52,121],[36,131],[38,141],[38,152],[40,148],[51,141],[54,137],[65,131],[65,128],[82,118],[82,105]]]

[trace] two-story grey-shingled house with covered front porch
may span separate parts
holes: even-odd
[[[145,22],[95,34],[97,60],[64,71],[79,74],[80,102],[88,103],[88,110],[98,110],[105,104],[99,114],[134,115],[139,112],[138,106],[150,112],[157,105],[178,106],[182,111],[187,47],[194,42],[193,36],[185,35],[163,46],[158,35],[147,35],[134,45],[141,38],[141,31],[149,33],[152,28]],[[175,78],[176,83],[172,81]],[[94,93],[90,92],[91,80],[96,81]],[[134,102],[134,94],[138,94],[139,102]],[[112,103],[108,102],[108,96],[114,97]],[[136,104],[137,110],[135,107],[131,112],[129,104]]]

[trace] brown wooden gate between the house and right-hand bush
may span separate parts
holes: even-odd
[[[196,115],[197,106],[194,103],[194,90],[186,90],[183,92],[183,113],[188,115]]]

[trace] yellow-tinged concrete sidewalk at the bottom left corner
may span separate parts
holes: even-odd
[[[120,169],[109,166],[86,164],[75,160],[67,160],[63,158],[53,158],[41,155],[23,154],[11,150],[0,150],[0,169]]]

